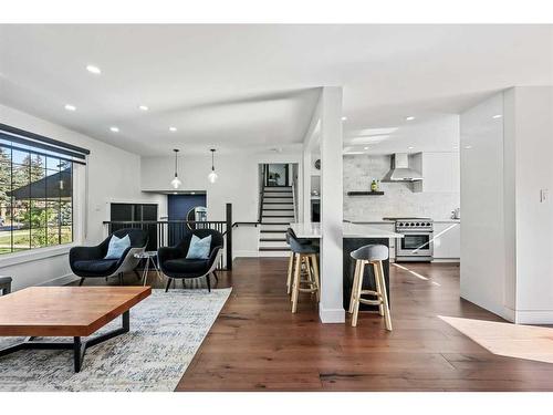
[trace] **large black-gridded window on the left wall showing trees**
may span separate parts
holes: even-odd
[[[73,162],[0,137],[0,255],[73,241]]]

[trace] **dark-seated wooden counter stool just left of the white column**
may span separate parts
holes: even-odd
[[[298,239],[292,229],[286,231],[286,239],[290,243],[290,250],[292,251],[292,258],[289,267],[289,278],[293,271],[292,280],[292,312],[295,313],[298,309],[298,297],[300,292],[311,292],[316,294],[319,301],[320,295],[320,279],[319,279],[319,264],[317,255],[319,247],[314,243],[304,242],[302,239]],[[302,263],[305,266],[307,273],[307,279],[302,280]],[[307,287],[302,287],[302,283]]]

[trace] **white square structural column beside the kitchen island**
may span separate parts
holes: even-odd
[[[343,307],[342,87],[323,87],[320,100],[321,145],[321,302],[323,323],[345,322]]]

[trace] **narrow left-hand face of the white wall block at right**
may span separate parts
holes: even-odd
[[[461,114],[461,297],[509,318],[505,309],[503,94]]]

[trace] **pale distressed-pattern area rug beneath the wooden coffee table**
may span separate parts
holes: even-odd
[[[88,349],[80,373],[72,351],[20,351],[0,357],[0,391],[174,391],[230,292],[153,290],[131,310],[131,332]]]

